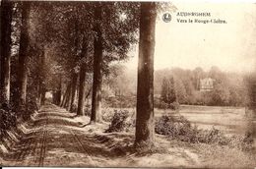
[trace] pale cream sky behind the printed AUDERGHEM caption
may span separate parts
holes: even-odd
[[[252,72],[256,67],[256,4],[252,3],[177,3],[176,12],[163,10],[157,20],[155,70],[180,67],[205,71],[218,66],[225,72]],[[169,23],[162,21],[170,13]],[[211,17],[179,17],[177,12],[211,13]],[[220,19],[226,24],[178,23],[177,19]],[[138,46],[125,63],[138,65]]]

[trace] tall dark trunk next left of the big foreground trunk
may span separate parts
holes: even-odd
[[[99,6],[95,9],[95,30],[96,36],[94,39],[95,53],[94,53],[94,83],[93,83],[93,98],[92,98],[92,115],[91,123],[101,121],[101,84],[102,84],[102,32],[100,23],[102,21],[102,7]]]

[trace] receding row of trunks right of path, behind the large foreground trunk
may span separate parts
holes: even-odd
[[[101,84],[102,84],[102,75],[101,75],[101,67],[102,67],[102,53],[103,53],[103,45],[102,45],[102,32],[100,28],[100,22],[102,21],[102,6],[100,3],[97,3],[95,8],[95,19],[96,23],[94,26],[94,30],[96,31],[96,35],[94,38],[94,83],[93,83],[93,98],[92,98],[92,116],[91,123],[96,123],[101,120],[100,111],[101,111]],[[85,39],[86,40],[86,39]],[[86,41],[84,42],[86,43]],[[82,49],[82,60],[87,57],[87,44],[83,45]],[[78,86],[78,109],[77,115],[84,115],[84,106],[86,99],[86,72],[87,72],[87,63],[83,61],[80,68],[79,73],[79,86]],[[78,76],[73,76],[72,83],[68,85],[67,90],[63,96],[61,106],[71,109],[76,94],[76,86],[77,86]],[[88,97],[88,96],[87,96]]]

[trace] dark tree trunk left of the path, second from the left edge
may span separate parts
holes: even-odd
[[[29,25],[30,25],[31,2],[24,1],[22,7],[22,27],[20,37],[19,57],[19,105],[26,103],[28,81],[28,50],[29,50]]]

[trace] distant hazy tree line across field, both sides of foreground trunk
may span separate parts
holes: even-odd
[[[136,79],[134,73],[125,67],[114,65],[112,69],[117,73],[107,79],[104,87],[105,97],[108,93],[116,96],[132,98],[136,96]],[[218,67],[204,71],[197,67],[194,70],[181,68],[160,69],[155,71],[154,81],[155,107],[164,104],[177,103],[189,105],[209,106],[248,106],[251,99],[252,75],[241,73],[227,73]],[[200,89],[200,80],[211,78],[213,88],[209,91]],[[123,83],[125,82],[125,83]],[[134,102],[134,101],[133,101]],[[162,103],[162,106],[160,105]],[[132,105],[132,104],[131,104]]]

